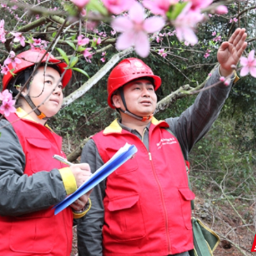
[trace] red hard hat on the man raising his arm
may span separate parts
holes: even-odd
[[[115,109],[112,102],[112,94],[121,86],[137,78],[150,77],[154,79],[155,90],[161,86],[161,78],[154,75],[151,68],[141,59],[128,58],[120,61],[108,78],[108,104]]]

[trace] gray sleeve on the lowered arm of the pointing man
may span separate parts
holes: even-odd
[[[83,148],[81,162],[89,163],[92,173],[104,164],[93,139],[90,139]],[[104,197],[105,181],[101,181],[90,194],[92,201],[90,211],[77,225],[79,256],[102,256],[101,229],[104,223]]]

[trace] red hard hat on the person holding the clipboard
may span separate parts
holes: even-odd
[[[46,51],[44,49],[40,49],[40,48],[34,48],[34,49],[30,49],[28,51],[25,52],[21,52],[20,54],[16,55],[16,58],[21,59],[21,63],[17,63],[16,67],[13,71],[14,74],[17,74],[21,71],[24,71],[26,68],[28,67],[32,67],[34,66],[37,62],[40,61],[40,59],[43,57],[44,53]],[[47,55],[44,56],[44,59],[42,60],[42,63],[45,63],[48,59],[48,55],[49,53],[47,53]],[[67,67],[66,63],[60,63],[59,59],[55,59],[55,57],[53,55],[51,55],[48,59],[49,63],[58,63],[56,64],[56,66],[59,67],[59,71],[62,74],[65,71],[65,67]],[[13,69],[13,65],[12,63],[10,63],[8,65],[9,69],[12,70]],[[67,83],[69,82],[69,80],[71,79],[72,76],[72,71],[71,70],[67,70],[65,75],[63,76],[63,87],[67,86]],[[6,75],[3,76],[2,78],[2,90],[6,90],[8,83],[10,82],[10,80],[13,78],[13,75],[8,72]]]

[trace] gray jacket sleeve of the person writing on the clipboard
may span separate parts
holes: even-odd
[[[59,170],[24,174],[25,154],[10,123],[0,120],[0,215],[19,216],[62,201],[65,191]]]

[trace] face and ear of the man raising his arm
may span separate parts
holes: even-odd
[[[128,82],[124,86],[124,99],[128,110],[139,117],[149,116],[155,111],[157,102],[155,88],[147,79]],[[125,109],[119,94],[113,96],[113,103],[117,108]]]

